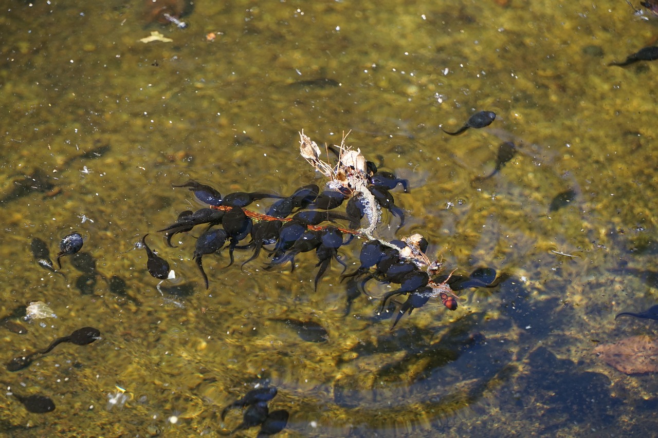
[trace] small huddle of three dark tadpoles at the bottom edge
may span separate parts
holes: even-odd
[[[220,431],[221,435],[233,435],[237,431],[261,426],[257,437],[268,437],[279,433],[288,424],[288,411],[278,409],[270,412],[267,403],[274,399],[277,394],[276,387],[265,385],[247,392],[244,397],[238,399],[222,410],[222,422],[226,414],[234,408],[245,408],[242,414],[242,422],[232,431]]]

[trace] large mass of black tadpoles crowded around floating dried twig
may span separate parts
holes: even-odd
[[[208,207],[196,211],[186,210],[178,215],[176,222],[159,230],[165,233],[166,243],[178,233],[191,231],[195,226],[206,228],[197,238],[193,260],[195,260],[206,288],[208,276],[203,269],[203,256],[228,248],[230,262],[234,263],[236,249],[251,249],[253,255],[245,262],[259,256],[261,249],[269,251],[266,270],[291,263],[295,268],[295,256],[315,251],[318,281],[330,267],[332,260],[347,266],[338,256],[338,249],[347,245],[355,236],[367,239],[361,250],[361,266],[346,276],[350,278],[348,306],[356,296],[365,291],[365,283],[375,279],[381,283],[397,283],[399,287],[382,299],[380,312],[389,310],[387,303],[393,297],[408,295],[404,303],[397,303],[397,318],[438,298],[450,310],[457,308],[459,298],[449,285],[450,276],[433,277],[442,267],[438,261],[426,256],[428,242],[415,234],[400,240],[386,241],[374,237],[376,227],[382,220],[382,210],[388,210],[399,218],[398,229],[404,224],[404,212],[395,205],[390,190],[401,184],[405,193],[407,181],[391,172],[380,172],[377,166],[367,161],[360,151],[353,151],[343,143],[332,148],[338,160],[330,165],[320,160],[320,149],[309,137],[301,134],[301,155],[319,172],[330,179],[324,190],[316,184],[304,185],[290,196],[282,197],[270,193],[234,192],[222,197],[215,188],[190,180],[174,187],[188,188],[195,198]],[[254,201],[276,199],[264,213],[247,210]],[[336,208],[345,204],[344,212]],[[366,219],[364,221],[364,218]],[[362,224],[366,222],[366,224]],[[346,223],[347,225],[340,225]],[[250,237],[248,243],[243,243]],[[142,239],[144,245],[145,241]],[[149,273],[159,279],[169,276],[169,265],[145,245]],[[373,269],[371,271],[371,268]],[[356,293],[354,286],[356,285]]]

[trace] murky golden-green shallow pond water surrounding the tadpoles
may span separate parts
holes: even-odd
[[[655,43],[655,22],[622,1],[498,3],[199,0],[186,30],[146,26],[139,1],[3,5],[0,316],[43,301],[57,318],[2,329],[2,360],[83,326],[103,339],[3,371],[57,410],[30,414],[3,395],[0,435],[215,435],[241,421],[234,410],[222,424],[222,408],[265,379],[279,390],[270,410],[290,412],[280,436],[653,431],[654,376],[621,374],[593,349],[655,331],[614,318],[655,304],[658,66],[607,66]],[[139,41],[154,30],[173,41]],[[295,85],[321,78],[340,86]],[[489,128],[440,131],[481,109],[498,116]],[[193,237],[166,248],[156,232],[193,208],[172,183],[284,194],[321,183],[297,154],[300,130],[318,143],[351,130],[349,144],[409,178],[397,235],[424,233],[446,270],[509,278],[392,331],[363,296],[343,316],[337,264],[313,291],[311,255],[292,273],[263,271],[264,258],[241,271],[248,253],[230,268],[205,256],[205,291]],[[474,182],[501,141],[517,155]],[[573,201],[549,211],[567,190]],[[86,285],[71,258],[64,278],[30,253],[39,237],[54,258],[72,230],[99,272]],[[145,233],[182,278],[178,295],[157,291],[134,249]],[[359,247],[342,250],[349,263]],[[301,339],[286,318],[317,322],[328,341]],[[116,385],[132,397],[122,408],[107,405]]]

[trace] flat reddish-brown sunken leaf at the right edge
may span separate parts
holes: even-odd
[[[658,341],[648,336],[632,336],[613,344],[599,345],[594,353],[625,374],[658,372]]]

